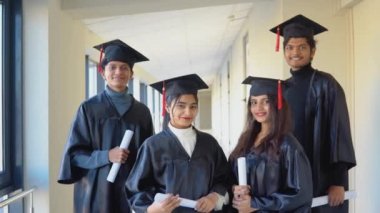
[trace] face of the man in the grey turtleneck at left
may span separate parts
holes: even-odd
[[[123,92],[131,79],[133,71],[129,65],[121,61],[110,61],[102,73],[107,85],[116,92]]]

